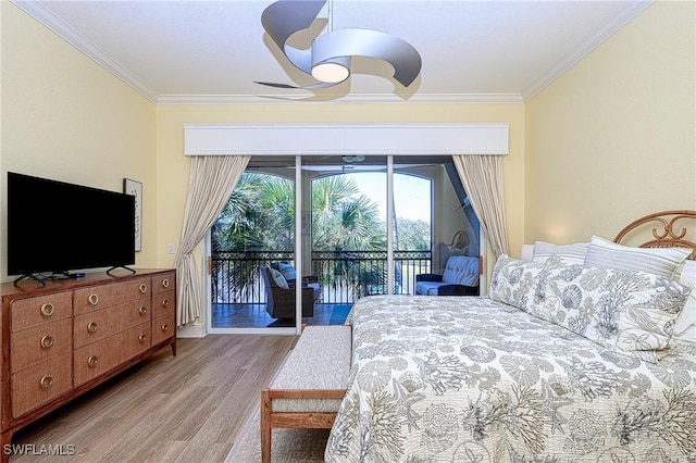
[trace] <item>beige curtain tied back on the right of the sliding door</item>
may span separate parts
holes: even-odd
[[[493,252],[496,256],[509,253],[502,157],[459,154],[452,160]]]

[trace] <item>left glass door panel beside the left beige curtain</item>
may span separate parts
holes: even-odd
[[[252,158],[210,234],[210,331],[293,328],[294,159]]]

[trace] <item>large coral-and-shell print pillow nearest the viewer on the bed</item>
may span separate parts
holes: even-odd
[[[550,262],[550,260],[549,260]],[[587,265],[542,274],[527,312],[598,345],[657,362],[691,289],[660,275]]]

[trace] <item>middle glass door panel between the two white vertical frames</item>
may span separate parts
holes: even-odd
[[[318,308],[333,313],[328,323],[343,323],[337,313],[345,320],[357,299],[386,293],[386,157],[308,158],[303,171],[311,185],[312,274],[322,284]]]

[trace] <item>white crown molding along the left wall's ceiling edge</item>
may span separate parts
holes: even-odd
[[[61,37],[63,40],[75,47],[77,50],[85,53],[89,59],[97,64],[115,75],[117,78],[133,87],[148,100],[157,103],[157,92],[149,88],[142,80],[138,79],[133,73],[125,68],[121,63],[111,58],[101,48],[95,45],[91,40],[76,30],[73,26],[67,24],[61,17],[55,15],[50,9],[48,9],[42,1],[27,1],[27,0],[10,0],[20,10],[24,11],[29,16],[34,17],[39,23],[44,24],[53,34]]]

